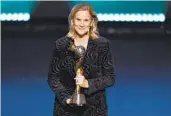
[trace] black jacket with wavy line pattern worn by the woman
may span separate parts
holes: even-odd
[[[62,37],[55,42],[48,73],[48,84],[55,93],[54,116],[107,116],[105,88],[114,84],[114,60],[110,42],[104,37],[89,39],[83,61],[84,76],[89,88],[82,88],[87,104],[72,107],[66,104],[75,91],[76,55],[69,50],[73,40]]]

